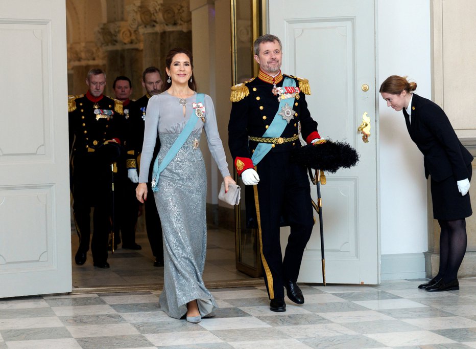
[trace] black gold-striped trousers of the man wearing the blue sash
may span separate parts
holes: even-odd
[[[314,226],[307,170],[289,161],[290,152],[270,151],[256,165],[254,186],[263,274],[270,299],[284,297],[283,282],[297,281]],[[258,207],[259,206],[259,207]],[[279,238],[281,215],[291,228],[284,258]]]

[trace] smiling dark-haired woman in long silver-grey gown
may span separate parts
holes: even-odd
[[[235,182],[228,171],[213,102],[205,95],[203,103],[197,103],[192,53],[173,49],[166,56],[165,64],[168,80],[162,93],[150,98],[146,110],[136,196],[140,202],[147,200],[146,183],[157,134],[161,144],[160,164],[188,120],[195,118],[197,122],[192,133],[160,172],[157,183],[152,181],[152,186],[155,184],[158,188],[154,198],[160,213],[164,244],[164,289],[159,297],[159,308],[173,318],[186,315],[187,321],[199,322],[202,317],[213,316],[217,309],[217,303],[202,279],[207,240],[206,172],[199,147],[202,129],[226,190]]]

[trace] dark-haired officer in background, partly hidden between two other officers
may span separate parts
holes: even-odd
[[[123,145],[127,147],[128,139],[133,137],[129,127],[129,110],[132,105],[130,96],[132,94],[132,82],[127,76],[118,76],[112,83],[112,89],[116,99],[123,103],[124,117],[122,120],[123,129]],[[122,158],[118,162],[118,176],[116,191],[114,194],[115,208],[117,211],[116,225],[114,227],[114,246],[109,241],[108,249],[117,249],[117,244],[121,244],[122,248],[130,250],[140,250],[141,247],[135,242],[135,228],[137,225],[137,198],[135,197],[136,185],[128,180],[126,159]],[[119,233],[121,231],[121,234]],[[122,240],[121,240],[122,236]]]

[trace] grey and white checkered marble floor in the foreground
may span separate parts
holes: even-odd
[[[264,287],[213,289],[220,309],[199,324],[157,310],[159,292],[0,299],[0,349],[28,348],[476,348],[476,279],[460,290],[301,285],[273,313]]]

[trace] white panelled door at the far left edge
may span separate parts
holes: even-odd
[[[72,288],[65,20],[0,2],[0,297]]]

